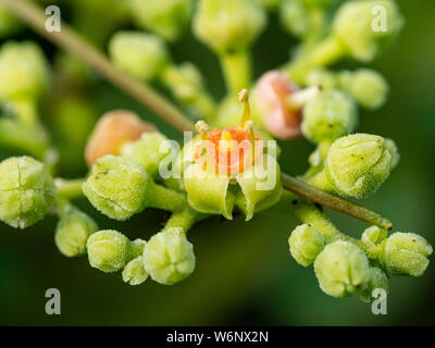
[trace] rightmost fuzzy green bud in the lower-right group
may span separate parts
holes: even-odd
[[[396,232],[383,241],[381,262],[393,274],[420,276],[428,265],[432,246],[413,233]]]

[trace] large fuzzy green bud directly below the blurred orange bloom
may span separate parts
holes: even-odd
[[[100,212],[124,221],[146,207],[151,185],[136,160],[110,154],[97,160],[83,184],[83,191]]]

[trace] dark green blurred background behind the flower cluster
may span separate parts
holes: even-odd
[[[422,234],[434,245],[435,2],[397,2],[407,20],[406,27],[394,47],[372,64],[390,83],[389,101],[377,112],[362,112],[359,130],[395,139],[401,161],[377,195],[362,203],[389,216],[395,231]],[[67,16],[65,13],[63,15]],[[96,17],[94,22],[96,28],[103,25]],[[121,24],[121,27],[129,28],[128,24]],[[50,59],[54,59],[53,48],[30,30],[24,29],[15,38],[37,40]],[[98,39],[104,41],[105,38]],[[281,29],[276,15],[272,15],[268,29],[254,47],[256,75],[283,63],[293,44]],[[208,87],[215,96],[223,95],[219,63],[208,49],[189,35],[172,49],[177,60],[198,63],[207,76]],[[357,65],[344,63],[344,66]],[[114,108],[132,109],[156,122],[169,136],[177,136],[123,92],[97,76],[92,75],[91,79],[88,96],[96,115]],[[69,92],[74,95],[66,88]],[[55,128],[55,120],[50,120],[51,105],[48,99],[44,116]],[[282,144],[282,147],[283,170],[289,174],[303,172],[312,146],[299,140]],[[73,150],[70,148],[70,151]],[[2,150],[0,157],[13,153],[16,152]],[[79,161],[74,157],[64,161],[62,175],[84,175]],[[117,228],[130,239],[149,238],[159,231],[164,219],[163,213],[150,210],[126,223],[114,223],[99,215],[85,200],[77,203],[98,220],[100,227]],[[363,223],[338,213],[331,212],[331,216],[350,235],[359,236],[365,228]],[[290,258],[287,238],[298,224],[290,212],[286,216],[266,211],[249,223],[237,216],[233,222],[213,217],[198,224],[189,237],[197,256],[196,272],[171,287],[151,281],[130,287],[120,275],[105,275],[91,269],[86,258],[63,257],[53,243],[55,222],[51,216],[25,231],[0,225],[0,324],[435,324],[433,261],[421,278],[391,278],[388,314],[373,315],[370,304],[355,297],[335,299],[323,294],[312,269],[303,269]],[[51,287],[61,291],[61,315],[45,313],[45,293]]]

